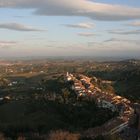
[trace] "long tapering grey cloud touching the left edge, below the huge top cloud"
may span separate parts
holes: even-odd
[[[41,29],[36,29],[31,26],[26,26],[19,23],[0,23],[1,29],[9,29],[9,30],[16,30],[16,31],[43,31]]]

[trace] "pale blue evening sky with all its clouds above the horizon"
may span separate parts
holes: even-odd
[[[140,58],[139,0],[0,0],[0,57]]]

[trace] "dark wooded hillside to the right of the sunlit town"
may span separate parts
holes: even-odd
[[[126,61],[118,62],[113,67],[115,68],[112,69],[110,66],[110,68],[106,70],[101,68],[100,70],[86,71],[86,74],[96,76],[102,80],[113,81],[111,86],[114,88],[114,92],[131,101],[140,102],[140,66]],[[103,85],[104,84],[101,86]],[[112,91],[109,85],[103,88]]]

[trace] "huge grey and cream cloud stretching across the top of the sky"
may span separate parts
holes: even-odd
[[[140,8],[88,0],[0,0],[0,7],[29,8],[38,15],[84,16],[96,20],[140,19]]]

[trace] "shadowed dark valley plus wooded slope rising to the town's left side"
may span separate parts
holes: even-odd
[[[70,88],[72,83],[66,83],[61,75],[44,76],[39,84],[43,90],[25,93],[29,98],[0,105],[0,131],[6,136],[44,135],[59,129],[80,133],[116,115],[98,108],[93,100],[78,101]]]

